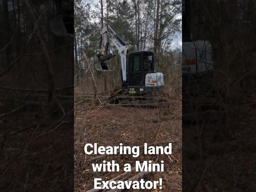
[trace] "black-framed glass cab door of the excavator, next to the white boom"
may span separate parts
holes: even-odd
[[[142,86],[141,63],[142,54],[130,54],[128,58],[128,86]]]

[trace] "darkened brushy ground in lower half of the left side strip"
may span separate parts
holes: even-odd
[[[73,190],[72,112],[50,118],[46,104],[0,105],[0,191]]]

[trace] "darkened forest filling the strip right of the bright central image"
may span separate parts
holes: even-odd
[[[182,5],[182,42],[209,41],[213,64],[182,76],[183,191],[254,191],[256,2]]]

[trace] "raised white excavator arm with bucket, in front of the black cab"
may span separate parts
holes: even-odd
[[[126,43],[110,28],[106,25],[102,28],[100,45],[97,51],[97,63],[95,64],[96,70],[110,71],[106,64],[106,61],[113,58],[113,54],[108,54],[109,42],[112,42],[118,50],[120,55],[120,66],[122,70],[122,84],[126,83],[126,55],[128,52],[128,46]]]

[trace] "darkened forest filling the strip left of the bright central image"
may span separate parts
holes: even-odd
[[[0,191],[73,189],[74,38],[52,32],[60,12],[58,0],[0,1]]]

